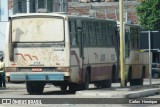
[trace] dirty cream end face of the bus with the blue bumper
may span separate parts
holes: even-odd
[[[57,73],[60,71],[60,75],[63,73],[63,78],[65,76],[70,76],[69,72],[65,72],[66,69],[69,71],[70,51],[66,50],[69,50],[70,47],[69,36],[67,36],[69,34],[67,33],[68,21],[64,20],[64,17],[65,16],[63,15],[43,16],[39,14],[33,14],[15,16],[10,19],[8,24],[9,32],[7,32],[8,38],[6,39],[7,43],[5,46],[5,66],[7,77],[12,75],[12,77],[14,76],[14,78],[11,78],[13,81],[28,81],[27,77],[29,74],[35,75],[36,73],[41,72],[41,74],[38,76],[41,77],[41,75],[46,75],[46,81],[48,81],[47,78],[49,78],[50,75],[49,73],[46,73],[46,71],[52,72],[53,75],[57,75]],[[56,18],[56,21],[54,21],[54,18]],[[44,21],[44,19],[49,21]],[[52,26],[57,22],[57,19],[60,19],[59,22],[61,23],[60,25],[63,27],[63,29],[60,29],[61,27],[58,28],[60,26],[59,24],[57,26]],[[40,29],[42,32],[39,32],[38,29]],[[61,33],[58,32],[59,29]],[[37,33],[35,31],[37,31]],[[63,35],[59,39],[58,37],[60,34]],[[36,36],[43,38],[38,38]],[[54,38],[54,36],[56,36],[56,38]],[[10,43],[13,45],[12,52],[10,52]],[[13,56],[13,61],[10,60],[10,54]],[[40,71],[36,72],[33,70]],[[24,71],[28,73],[24,73]],[[21,76],[25,77],[25,80],[17,79],[18,77],[21,78]],[[53,77],[58,78],[58,76]]]

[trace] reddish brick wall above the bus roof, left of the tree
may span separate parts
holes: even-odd
[[[136,15],[136,6],[139,5],[137,1],[124,1],[124,20],[138,23]],[[99,3],[79,3],[69,2],[68,13],[89,15],[90,12],[95,12],[98,18],[108,18],[119,20],[119,3],[118,2],[99,2]],[[127,12],[127,15],[125,14]],[[126,17],[127,16],[127,17]]]

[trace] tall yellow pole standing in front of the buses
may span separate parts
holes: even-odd
[[[124,37],[123,37],[123,0],[119,0],[120,13],[120,76],[121,87],[125,86],[125,65],[124,65]]]

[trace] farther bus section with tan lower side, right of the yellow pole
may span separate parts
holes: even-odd
[[[143,79],[148,74],[148,54],[139,51],[140,32],[139,25],[124,23],[125,77],[131,86],[143,85]]]

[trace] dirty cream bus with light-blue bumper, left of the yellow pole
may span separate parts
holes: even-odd
[[[111,87],[118,57],[116,21],[58,13],[10,17],[5,50],[6,72],[26,82],[28,93],[42,93],[46,83],[61,90]],[[133,67],[134,69],[134,67]]]

